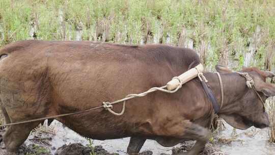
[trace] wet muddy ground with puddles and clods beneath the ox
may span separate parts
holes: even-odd
[[[234,130],[225,124],[225,130],[210,139],[201,155],[271,155],[275,154],[275,144],[269,144],[268,129],[260,130],[254,127],[246,131]],[[5,154],[5,146],[0,137],[0,151]],[[79,136],[61,123],[54,121],[50,126],[43,125],[34,130],[28,140],[21,146],[19,154],[126,154],[129,138],[116,140],[91,140]],[[151,154],[175,154],[186,151],[194,143],[186,142],[175,147],[162,147],[155,141],[147,140],[141,153]],[[1,154],[1,153],[0,153]]]

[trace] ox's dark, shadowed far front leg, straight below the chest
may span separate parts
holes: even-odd
[[[131,137],[127,147],[128,154],[139,154],[146,139],[142,137]]]

